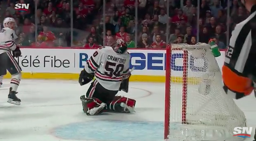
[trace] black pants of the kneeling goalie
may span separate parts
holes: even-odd
[[[94,80],[87,90],[86,97],[100,99],[103,103],[110,103],[115,98],[118,90],[107,90],[97,80]]]

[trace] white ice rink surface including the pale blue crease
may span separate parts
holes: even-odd
[[[9,86],[9,80],[4,80],[4,87],[0,88],[0,141],[160,141],[163,137],[163,83],[130,83],[129,93],[119,95],[137,100],[136,113],[100,116],[82,112],[79,97],[86,93],[89,84],[21,80],[19,106],[6,102]],[[255,101],[253,95],[236,101],[245,113],[247,126],[254,129]]]

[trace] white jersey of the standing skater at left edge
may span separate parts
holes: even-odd
[[[17,35],[13,29],[4,27],[0,30],[0,54],[11,52],[16,49],[15,39]]]

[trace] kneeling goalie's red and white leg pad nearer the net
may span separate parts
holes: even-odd
[[[121,112],[121,113],[133,113],[136,101],[127,97],[116,96],[111,103],[107,104],[106,109]]]

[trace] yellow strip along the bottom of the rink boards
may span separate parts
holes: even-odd
[[[7,73],[4,78],[11,78],[11,74]],[[78,80],[79,74],[70,73],[29,73],[22,72],[22,78],[24,79],[59,79],[59,80]],[[165,76],[142,76],[132,75],[130,81],[133,82],[165,82]],[[183,83],[183,79],[180,76],[171,77],[171,81],[175,83]],[[188,78],[188,84],[198,84],[200,78]]]

